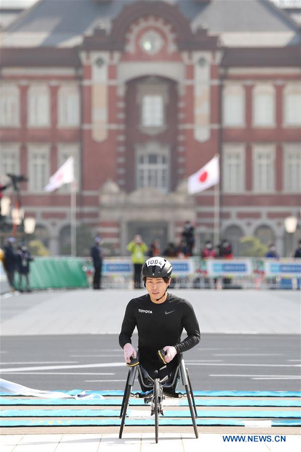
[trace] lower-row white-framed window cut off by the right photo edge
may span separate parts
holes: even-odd
[[[284,191],[301,193],[301,143],[283,145]],[[292,162],[290,161],[292,160]]]

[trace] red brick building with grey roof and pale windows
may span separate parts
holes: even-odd
[[[135,233],[163,247],[188,219],[197,251],[213,237],[213,190],[191,197],[186,180],[219,153],[221,236],[236,254],[257,235],[285,255],[300,74],[300,27],[269,1],[41,0],[2,36],[1,173],[29,177],[24,208],[53,254],[69,239],[69,189],[43,188],[71,154],[77,225],[125,254]]]

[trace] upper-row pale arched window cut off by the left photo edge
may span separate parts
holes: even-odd
[[[18,127],[20,124],[19,88],[3,82],[0,91],[2,127]]]

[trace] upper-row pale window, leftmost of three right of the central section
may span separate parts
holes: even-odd
[[[225,127],[245,127],[246,124],[245,88],[239,84],[227,84],[223,89],[223,124]],[[236,103],[236,116],[234,111]]]

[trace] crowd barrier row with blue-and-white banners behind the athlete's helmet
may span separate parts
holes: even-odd
[[[175,289],[292,289],[301,286],[301,259],[169,258],[173,266],[171,288]],[[90,281],[91,259],[83,268]],[[133,265],[130,257],[104,259],[102,286],[108,289],[133,289]]]

